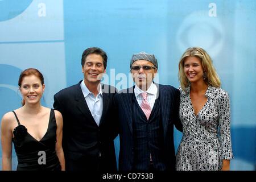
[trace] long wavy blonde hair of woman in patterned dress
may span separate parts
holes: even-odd
[[[180,86],[183,90],[185,90],[185,88],[187,88],[189,85],[189,81],[184,73],[184,60],[188,56],[196,56],[196,57],[199,57],[199,59],[201,60],[201,63],[205,72],[205,76],[206,76],[204,80],[206,84],[212,85],[215,87],[220,87],[221,85],[220,78],[218,77],[216,69],[213,66],[212,59],[210,58],[208,53],[203,48],[190,47],[183,53],[179,62],[179,81],[180,81]]]

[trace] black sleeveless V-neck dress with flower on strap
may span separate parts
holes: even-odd
[[[18,158],[17,171],[60,171],[59,158],[56,155],[56,119],[51,109],[48,128],[42,139],[36,140],[25,126],[20,125],[16,113],[13,111],[18,126],[14,129],[14,148]]]

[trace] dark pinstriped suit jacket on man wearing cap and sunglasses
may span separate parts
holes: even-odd
[[[167,170],[175,170],[174,125],[182,131],[179,119],[180,92],[169,85],[158,85],[158,96],[162,113],[162,126],[164,136],[164,161]],[[131,101],[134,86],[121,90],[114,96],[114,104],[118,112],[118,125],[120,137],[119,170],[130,171],[133,167],[133,126]]]

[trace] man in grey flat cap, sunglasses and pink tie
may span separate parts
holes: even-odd
[[[119,122],[119,170],[175,170],[174,125],[182,131],[180,92],[153,81],[158,61],[152,54],[134,54],[130,71],[135,85],[114,96]]]

